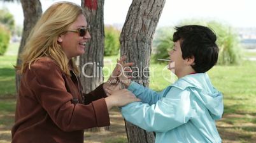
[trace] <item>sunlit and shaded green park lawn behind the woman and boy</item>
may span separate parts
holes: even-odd
[[[15,70],[18,44],[11,44],[0,56],[0,142],[11,142],[15,115]],[[254,54],[246,54],[248,56]],[[104,73],[117,56],[104,58]],[[150,88],[160,91],[176,80],[166,65],[150,64]],[[224,115],[217,121],[223,142],[256,140],[256,61],[243,61],[238,66],[215,66],[208,71],[213,85],[224,94]],[[106,76],[107,78],[108,76]],[[105,79],[106,79],[105,78]],[[105,132],[86,132],[85,142],[127,142],[124,120],[117,108],[110,111],[111,127]]]

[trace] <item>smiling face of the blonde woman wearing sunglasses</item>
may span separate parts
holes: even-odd
[[[73,32],[68,31],[58,37],[58,42],[68,59],[85,53],[85,44],[91,38],[88,31],[84,36],[81,36],[79,32],[75,32],[80,28],[87,28],[87,21],[84,15],[79,15],[76,21],[68,28],[68,30],[74,30]]]

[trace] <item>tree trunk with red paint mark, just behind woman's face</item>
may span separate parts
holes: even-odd
[[[79,57],[82,68],[80,74],[83,92],[88,93],[103,82],[103,56],[104,56],[104,0],[82,0],[87,23],[90,25],[92,39],[85,46],[85,54]],[[109,127],[92,128],[87,131],[108,130]]]

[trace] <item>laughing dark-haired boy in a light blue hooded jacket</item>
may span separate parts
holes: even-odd
[[[218,59],[216,35],[208,27],[176,27],[174,48],[169,52],[169,70],[178,80],[162,92],[155,92],[120,77],[141,102],[122,107],[125,120],[149,132],[155,142],[222,142],[215,120],[224,111],[222,94],[210,82],[206,71]],[[170,65],[173,65],[171,67]]]

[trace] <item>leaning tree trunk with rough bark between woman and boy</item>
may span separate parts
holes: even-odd
[[[133,0],[122,28],[121,55],[133,62],[132,80],[148,86],[153,34],[159,22],[165,0]],[[125,121],[127,139],[131,143],[155,142],[153,132],[146,132]]]

